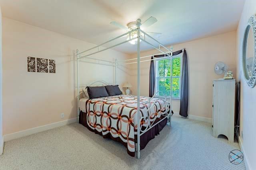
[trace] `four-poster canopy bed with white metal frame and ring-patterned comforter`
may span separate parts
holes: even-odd
[[[172,61],[172,49],[168,49],[168,48],[164,47],[164,45],[162,45],[156,39],[154,39],[153,37],[151,37],[144,31],[142,31],[140,29],[140,25],[141,25],[140,22],[138,22],[136,29],[134,29],[132,31],[128,31],[127,33],[124,33],[114,39],[106,41],[105,43],[102,43],[96,47],[90,48],[90,49],[88,49],[86,51],[82,51],[82,52],[79,52],[78,50],[76,51],[76,53],[77,53],[78,122],[81,122],[82,119],[85,119],[86,123],[87,123],[86,126],[91,126],[91,129],[90,128],[88,128],[88,129],[94,131],[95,133],[102,133],[101,135],[104,135],[103,133],[105,133],[105,135],[106,135],[106,133],[108,133],[108,135],[110,135],[110,133],[111,133],[112,139],[118,138],[117,141],[126,143],[128,154],[130,152],[131,156],[135,156],[135,150],[136,150],[137,158],[140,158],[141,136],[144,133],[147,133],[148,131],[150,131],[150,129],[153,131],[153,129],[156,128],[158,125],[160,125],[161,122],[165,122],[165,124],[166,124],[168,118],[169,118],[169,123],[171,125],[171,111],[172,111],[172,90],[171,90],[172,89],[172,74],[170,75],[170,95],[165,96],[164,99],[163,98],[155,98],[155,95],[158,92],[156,92],[152,98],[140,96],[140,63],[146,62],[146,61],[151,61],[151,60],[156,60],[156,59],[142,60],[142,61],[140,60],[140,59],[144,59],[146,57],[152,56],[152,55],[150,55],[150,56],[140,57],[140,41],[152,46],[154,49],[157,49],[158,51],[161,52],[161,54],[165,55],[166,59],[170,59],[170,61]],[[131,34],[134,35],[134,33],[136,33],[137,36],[131,37]],[[108,47],[108,48],[102,47],[103,45],[106,45],[107,43],[113,42],[114,40],[120,39],[121,37],[124,37],[124,36],[128,36],[129,38],[126,41],[117,43],[116,45],[112,45],[111,47]],[[158,47],[152,45],[152,43],[149,43],[147,41],[147,39],[150,39],[151,41],[153,40],[155,43],[158,44]],[[128,60],[124,60],[124,61],[118,61],[116,59],[115,61],[107,61],[107,60],[95,59],[93,57],[89,57],[90,55],[100,53],[102,51],[111,49],[113,47],[127,43],[132,40],[136,40],[136,42],[137,42],[137,58],[135,58],[135,59],[128,59]],[[161,48],[165,49],[167,51],[164,52]],[[86,52],[88,53],[92,50],[97,50],[97,51],[84,55]],[[94,60],[95,62],[88,61],[86,59]],[[97,83],[98,84],[100,83],[100,84],[102,84],[102,86],[105,86],[105,85],[108,85],[108,83],[106,83],[104,81],[97,81],[97,82],[94,82],[93,84],[89,84],[89,85],[88,84],[80,84],[80,81],[79,81],[79,62],[80,61],[86,62],[86,63],[95,63],[95,64],[113,66],[115,69],[115,71],[114,71],[115,72],[115,74],[114,74],[114,83],[115,84],[117,84],[117,80],[116,80],[117,68],[119,65],[137,63],[137,96],[119,95],[119,96],[110,96],[110,97],[105,97],[105,98],[87,100],[87,102],[82,105],[86,106],[86,110],[84,112],[88,112],[88,113],[86,113],[86,115],[84,117],[82,117],[81,101],[80,101],[80,98],[81,98],[80,97],[80,88],[84,88],[89,85],[92,86]],[[130,62],[130,61],[132,61],[132,62]],[[128,62],[130,62],[130,63],[128,63]],[[171,73],[172,73],[172,70],[171,70]],[[169,100],[169,102],[168,102],[168,100]],[[113,101],[118,101],[118,102],[114,103]],[[118,108],[114,108],[114,106],[115,107],[118,106]],[[105,107],[108,107],[106,112],[104,111]],[[92,110],[90,110],[90,109],[92,109]],[[113,109],[113,111],[112,111],[113,113],[110,113],[109,109],[111,109],[111,110]],[[120,111],[120,109],[122,109],[122,111]],[[140,113],[140,114],[136,114],[136,113]],[[124,114],[124,115],[120,116],[121,114]],[[116,117],[114,117],[114,116],[116,116]],[[100,117],[100,120],[98,120],[98,122],[97,122],[97,117]],[[104,119],[105,119],[105,121],[104,121]],[[116,125],[114,125],[114,123],[112,123],[112,122],[116,121],[116,119],[118,119],[118,121],[116,122]],[[121,123],[120,123],[120,121],[121,121]],[[123,126],[123,129],[124,128],[127,129],[126,132],[122,131],[122,126]],[[119,129],[119,130],[116,130],[116,129]],[[120,139],[119,139],[119,137],[120,137]],[[143,141],[142,141],[142,143],[143,143]]]

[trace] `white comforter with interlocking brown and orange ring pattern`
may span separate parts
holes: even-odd
[[[152,99],[151,105],[156,100],[157,98]],[[149,120],[154,122],[159,118],[165,112],[166,106],[164,101],[158,100],[151,111],[148,111],[148,107],[148,97],[140,97],[140,117],[144,117],[140,122],[142,127],[146,127]],[[170,107],[167,108],[169,111]],[[134,155],[138,129],[137,96],[118,95],[87,100],[86,114],[90,129],[103,136],[110,133],[112,137],[120,138],[122,143],[127,143],[128,154]]]

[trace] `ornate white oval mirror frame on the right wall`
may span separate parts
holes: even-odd
[[[253,57],[253,65],[252,65],[252,76],[249,77],[246,67],[246,46],[247,46],[247,39],[248,34],[252,28],[253,33],[253,46],[254,46],[254,57]],[[249,18],[248,24],[244,31],[244,39],[242,44],[242,67],[244,72],[244,78],[250,88],[254,88],[256,84],[256,16],[251,16]]]

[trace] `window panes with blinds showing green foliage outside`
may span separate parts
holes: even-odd
[[[181,55],[172,59],[172,98],[180,99]],[[170,96],[170,59],[156,61],[156,91],[158,96]]]

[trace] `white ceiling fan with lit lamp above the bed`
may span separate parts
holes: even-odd
[[[140,19],[137,19],[136,21],[132,21],[132,22],[129,22],[128,24],[127,24],[127,27],[126,26],[124,26],[124,25],[122,25],[122,24],[120,24],[120,23],[118,23],[118,22],[116,22],[116,21],[112,21],[112,22],[110,22],[110,24],[111,25],[114,25],[114,26],[116,26],[116,27],[119,27],[119,28],[121,28],[121,29],[124,29],[124,30],[126,30],[126,31],[132,31],[132,30],[134,30],[134,29],[136,29],[137,28],[137,25],[139,24],[140,26],[141,25],[143,25],[143,27],[149,27],[149,26],[151,26],[152,24],[154,24],[154,23],[156,23],[157,22],[157,19],[155,18],[155,17],[150,17],[150,18],[148,18],[146,21],[144,21],[143,23],[141,23],[141,20]],[[146,32],[146,31],[145,31]],[[155,35],[158,35],[158,37],[160,36],[160,35],[162,35],[162,33],[154,33],[154,32],[146,32],[146,33],[150,33],[150,34],[155,34]],[[137,37],[137,33],[134,31],[134,32],[132,32],[132,35],[131,35],[131,38],[134,38],[134,37]],[[129,40],[129,35],[128,35],[128,37],[127,37],[127,40]],[[137,39],[134,39],[134,40],[132,40],[132,41],[129,41],[131,44],[135,44],[136,43],[136,41],[137,41]]]

